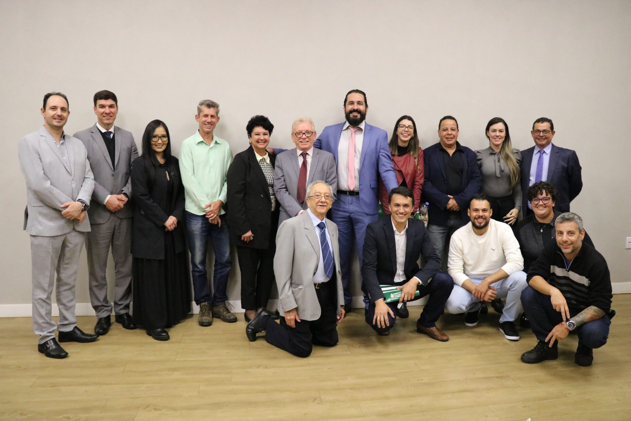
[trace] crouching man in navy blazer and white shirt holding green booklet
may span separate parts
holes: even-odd
[[[447,341],[436,327],[436,321],[454,288],[454,280],[440,272],[440,258],[420,220],[410,218],[414,196],[408,187],[390,191],[388,202],[392,211],[386,218],[368,225],[363,244],[362,278],[365,292],[370,295],[365,310],[366,323],[379,335],[386,336],[394,327],[399,302],[418,300],[429,295],[425,309],[416,321],[416,331],[438,341]],[[423,268],[418,258],[423,256]],[[379,285],[398,285],[401,298],[386,304]],[[416,291],[420,292],[415,297]]]

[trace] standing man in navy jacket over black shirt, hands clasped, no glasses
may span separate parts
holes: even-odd
[[[482,187],[476,153],[458,143],[458,133],[456,118],[442,117],[439,143],[423,150],[423,198],[430,204],[427,232],[441,259],[445,240],[469,222],[469,202]]]

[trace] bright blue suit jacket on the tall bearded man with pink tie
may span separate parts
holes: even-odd
[[[339,136],[342,134],[343,127],[344,123],[324,127],[314,142],[316,148],[333,153],[336,165],[339,165]],[[377,200],[377,174],[381,175],[388,191],[399,186],[392,166],[386,131],[366,124],[359,164],[359,196],[363,210],[369,215],[377,213],[377,204],[379,203]]]

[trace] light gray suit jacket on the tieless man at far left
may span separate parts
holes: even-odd
[[[83,222],[61,215],[61,205],[82,199],[88,205],[94,178],[83,143],[64,134],[68,160],[62,158],[55,139],[44,126],[27,134],[18,145],[20,169],[27,180],[27,209],[24,229],[30,235],[52,237],[70,232],[90,231],[90,218]]]

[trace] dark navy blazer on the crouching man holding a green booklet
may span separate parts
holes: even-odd
[[[440,270],[440,258],[430,240],[425,223],[408,219],[408,232],[405,247],[404,272],[406,281],[416,276],[427,283]],[[423,256],[425,264],[418,267],[418,258]],[[384,298],[379,285],[394,285],[396,275],[396,244],[392,215],[369,223],[363,240],[362,288],[370,295],[370,300]]]

